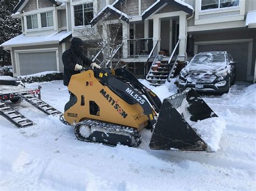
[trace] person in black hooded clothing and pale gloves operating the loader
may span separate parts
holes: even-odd
[[[91,67],[92,69],[100,68],[97,63],[92,62],[83,54],[84,43],[82,39],[74,37],[71,40],[71,46],[62,54],[64,65],[64,80],[65,86],[69,86],[69,81],[73,74],[79,74],[79,70],[83,67]]]

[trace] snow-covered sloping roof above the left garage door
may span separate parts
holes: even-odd
[[[12,38],[5,43],[3,43],[2,47],[12,47],[12,46],[25,46],[30,44],[53,44],[59,43],[66,37],[70,36],[71,32],[61,31],[59,33],[55,32],[50,35],[37,36],[37,37],[29,37],[24,34],[21,34],[15,38]]]

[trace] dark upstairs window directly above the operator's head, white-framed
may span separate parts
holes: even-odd
[[[93,18],[93,3],[74,6],[75,26],[89,25]]]

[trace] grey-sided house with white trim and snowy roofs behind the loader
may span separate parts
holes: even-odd
[[[23,34],[1,46],[11,51],[16,76],[62,71],[61,55],[72,37],[87,41],[81,31],[97,33],[100,22],[122,20],[122,60],[133,63],[136,74],[159,51],[180,61],[228,51],[238,61],[237,80],[255,79],[254,0],[21,0],[12,17],[21,19]],[[88,55],[97,51],[87,47]]]

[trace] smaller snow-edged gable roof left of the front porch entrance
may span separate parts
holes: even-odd
[[[114,2],[113,4],[115,4]],[[107,15],[110,13],[109,15]],[[113,5],[107,5],[105,8],[103,8],[92,20],[91,20],[91,26],[95,25],[99,22],[100,19],[103,17],[109,17],[110,15],[116,15],[119,17],[119,19],[122,19],[124,22],[129,23],[130,16],[126,15],[124,12],[119,11],[118,9],[114,8]]]

